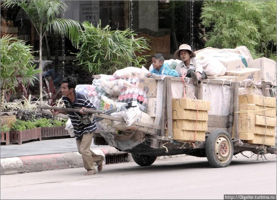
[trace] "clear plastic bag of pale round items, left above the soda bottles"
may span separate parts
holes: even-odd
[[[102,80],[100,82],[100,87],[102,87],[110,96],[118,96],[122,90],[133,88],[134,86],[135,85],[132,85],[131,83],[123,79],[117,79],[114,81]]]

